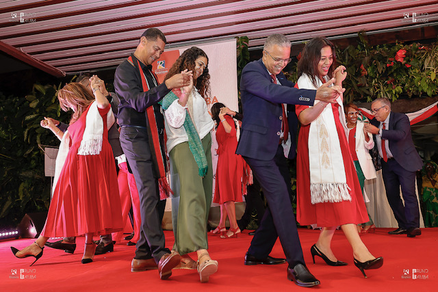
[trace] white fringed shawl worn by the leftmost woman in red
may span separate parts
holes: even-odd
[[[111,109],[107,113],[107,129],[112,127],[115,122],[114,114]],[[99,114],[99,108],[97,107],[96,101],[93,101],[88,109],[86,116],[85,130],[83,131],[81,145],[77,150],[78,155],[98,155],[102,150],[103,141],[103,119],[101,114]],[[61,170],[64,167],[66,157],[68,155],[68,150],[70,150],[70,134],[68,131],[64,132],[62,136],[60,148],[57,152],[57,157],[55,161],[55,177],[53,178],[52,196],[53,191],[60,177]]]

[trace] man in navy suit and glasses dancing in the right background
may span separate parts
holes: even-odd
[[[365,125],[365,129],[375,135],[377,150],[382,158],[386,196],[398,222],[398,228],[389,231],[389,234],[407,234],[408,237],[421,235],[415,174],[423,167],[423,161],[412,141],[409,118],[391,111],[391,103],[387,98],[376,98],[371,109],[374,119],[371,124]],[[404,205],[400,198],[400,186]]]

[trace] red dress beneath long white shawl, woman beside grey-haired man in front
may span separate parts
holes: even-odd
[[[299,116],[301,111],[308,108],[307,105],[296,105],[295,107],[297,116]],[[342,127],[342,123],[339,120],[339,105],[331,103],[331,107],[335,117],[342,158],[344,159],[346,180],[348,187],[350,187],[351,202],[311,204],[308,144],[310,124],[302,126],[300,133],[298,133],[298,153],[296,158],[296,219],[301,225],[317,224],[318,227],[331,227],[349,223],[361,224],[368,222],[368,213],[363,201],[361,186],[348,148],[344,127]]]

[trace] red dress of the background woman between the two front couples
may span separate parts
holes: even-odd
[[[244,174],[244,159],[235,154],[237,148],[236,130],[234,120],[225,115],[225,119],[231,125],[231,132],[227,133],[219,123],[216,130],[218,142],[218,165],[216,168],[216,185],[214,188],[214,200],[217,204],[224,202],[242,202],[242,176]]]

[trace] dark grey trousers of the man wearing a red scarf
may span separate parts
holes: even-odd
[[[153,173],[153,158],[148,143],[146,129],[122,127],[120,129],[120,145],[131,166],[140,197],[140,213],[142,226],[140,239],[136,245],[137,259],[154,258],[158,263],[164,254],[170,253],[165,248],[162,219],[165,200],[159,200],[157,178]]]

